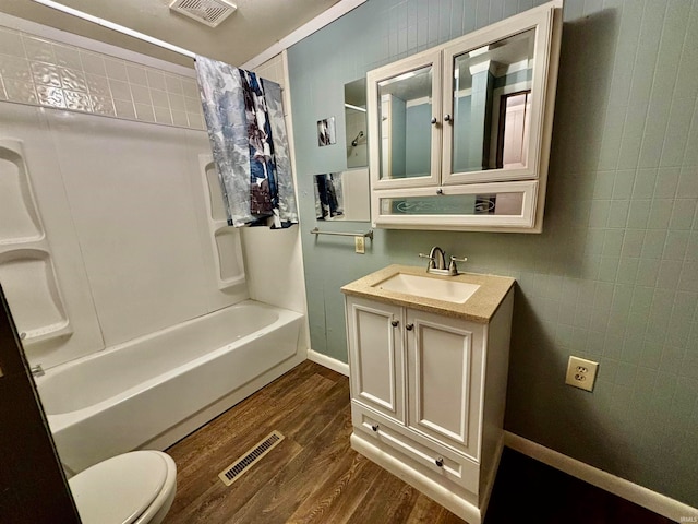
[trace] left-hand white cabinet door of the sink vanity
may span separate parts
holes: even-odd
[[[405,422],[404,309],[347,297],[351,398]]]

